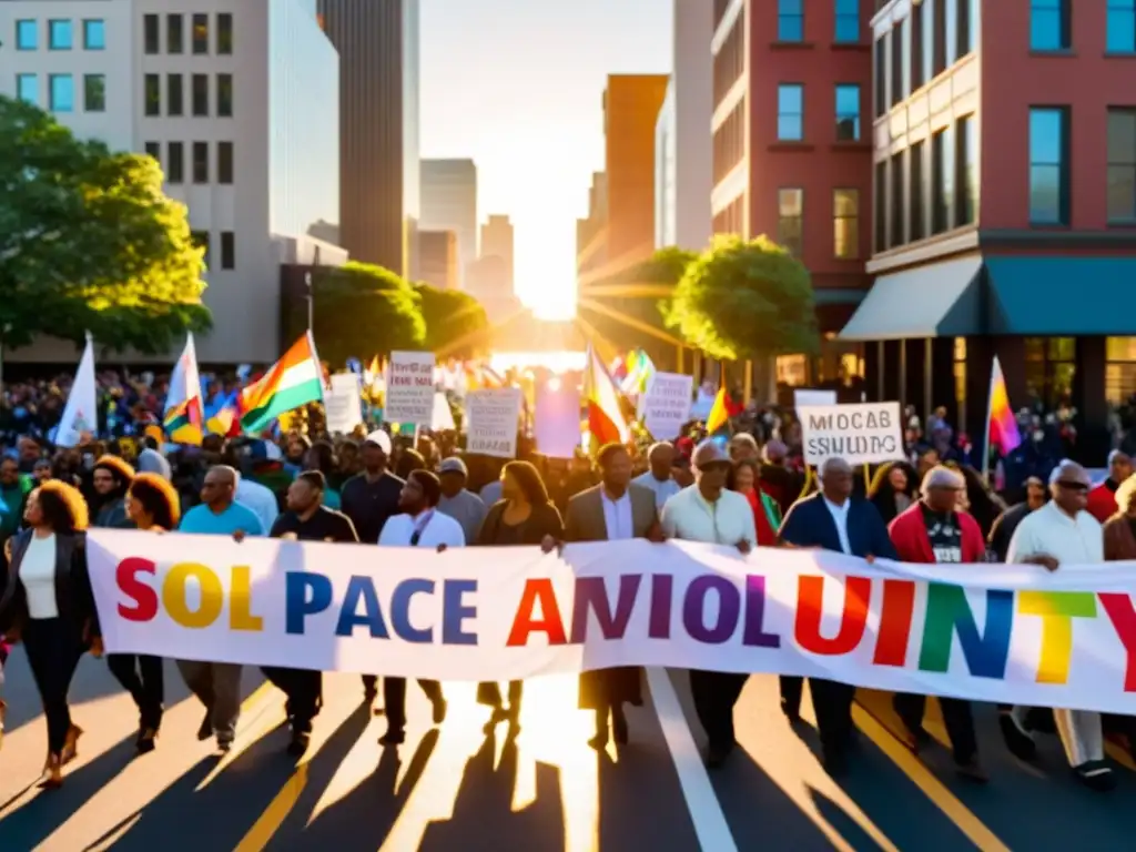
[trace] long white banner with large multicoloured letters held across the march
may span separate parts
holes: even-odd
[[[109,652],[509,680],[611,666],[782,673],[1136,715],[1136,563],[917,566],[623,541],[300,543],[93,529]]]

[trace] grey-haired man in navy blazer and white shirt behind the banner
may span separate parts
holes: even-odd
[[[852,495],[852,466],[830,457],[820,466],[820,491],[797,500],[778,532],[779,541],[791,548],[830,550],[861,557],[896,559],[887,527],[875,506]],[[782,710],[790,721],[801,718],[801,693],[804,679],[783,675],[780,678]],[[840,775],[846,768],[847,747],[852,742],[852,699],[855,686],[809,678],[812,708],[820,732],[825,769]]]

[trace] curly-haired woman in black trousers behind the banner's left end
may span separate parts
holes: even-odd
[[[177,492],[158,474],[139,474],[126,490],[126,517],[142,531],[156,533],[177,528],[182,517]],[[139,709],[139,754],[153,751],[166,694],[162,660],[149,654],[109,654],[110,674],[134,699]]]

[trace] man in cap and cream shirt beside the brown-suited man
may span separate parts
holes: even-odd
[[[758,542],[750,501],[726,490],[733,469],[729,456],[713,441],[694,450],[695,483],[675,494],[662,508],[662,532],[667,538],[736,546],[749,553]],[[749,675],[691,669],[694,711],[709,740],[705,763],[716,769],[726,762],[737,740],[734,705]]]

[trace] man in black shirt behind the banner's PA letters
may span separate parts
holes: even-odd
[[[358,543],[354,526],[346,515],[324,506],[327,483],[318,470],[300,474],[287,490],[287,510],[273,524],[273,538],[301,542]],[[323,703],[324,675],[310,669],[265,666],[265,677],[287,695],[286,713],[292,728],[289,753],[296,757],[308,750],[311,720]]]

